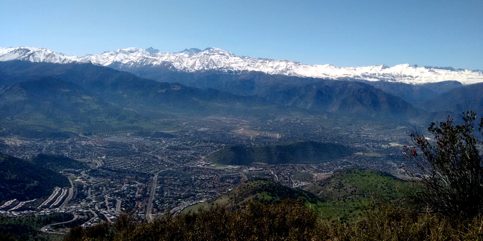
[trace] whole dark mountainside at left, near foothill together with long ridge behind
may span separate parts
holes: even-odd
[[[2,62],[0,85],[0,109],[6,113],[0,123],[6,133],[138,132],[159,129],[158,121],[149,118],[272,119],[306,112],[258,96],[162,83],[92,64]]]

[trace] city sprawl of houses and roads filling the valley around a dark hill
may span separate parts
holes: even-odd
[[[11,137],[4,152],[21,158],[38,153],[65,155],[86,163],[88,168],[65,169],[70,187],[56,187],[41,200],[10,200],[0,213],[11,216],[71,213],[69,222],[44,227],[63,233],[66,227],[88,227],[113,222],[122,212],[139,219],[179,214],[191,205],[219,197],[243,181],[257,178],[300,187],[322,180],[336,170],[359,167],[402,175],[401,157],[408,143],[407,129],[376,123],[331,124],[325,118],[290,117],[268,121],[208,117],[199,120],[163,119],[175,124],[166,137],[134,133],[79,134],[71,138],[27,139]],[[356,152],[346,158],[318,164],[252,163],[222,165],[205,157],[223,147],[270,144],[314,139],[343,142]]]

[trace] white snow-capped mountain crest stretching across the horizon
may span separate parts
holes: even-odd
[[[67,56],[45,48],[9,47],[0,48],[0,61],[25,60],[47,63],[88,63],[128,70],[139,67],[166,67],[174,71],[195,72],[210,69],[226,71],[255,70],[268,74],[315,77],[324,79],[386,80],[410,84],[422,84],[456,80],[463,84],[483,82],[482,70],[418,67],[409,64],[388,67],[335,67],[333,65],[305,65],[289,60],[273,60],[237,56],[219,48],[185,49],[177,53],[162,53],[148,48],[118,49],[113,52]]]

